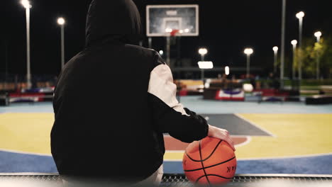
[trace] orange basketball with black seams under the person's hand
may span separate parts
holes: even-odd
[[[182,160],[184,174],[197,184],[226,184],[236,173],[236,155],[227,142],[205,137],[186,148]]]

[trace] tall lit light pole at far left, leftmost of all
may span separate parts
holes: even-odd
[[[28,0],[22,0],[21,4],[26,8],[26,86],[31,89],[31,62],[30,62],[30,8]]]

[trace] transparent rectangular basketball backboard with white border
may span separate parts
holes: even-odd
[[[146,35],[169,35],[173,29],[181,36],[199,35],[199,6],[197,4],[169,4],[146,6]]]

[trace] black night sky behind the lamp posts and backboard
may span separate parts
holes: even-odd
[[[111,1],[111,0],[110,0]],[[84,47],[86,13],[89,0],[31,0],[31,72],[60,72],[60,27],[57,17],[66,18],[66,61]],[[198,4],[199,37],[182,37],[182,57],[198,61],[199,47],[207,47],[206,60],[216,67],[244,67],[245,47],[253,47],[252,66],[272,69],[272,47],[280,47],[282,0],[134,0],[145,29],[145,6],[149,4]],[[26,74],[26,14],[19,0],[1,1],[4,18],[1,26],[0,74]],[[332,3],[328,0],[287,0],[286,57],[292,54],[291,40],[298,39],[299,22],[295,14],[304,11],[304,38],[314,32],[332,33]],[[143,30],[145,34],[145,30]],[[148,47],[148,38],[143,45]],[[153,38],[155,50],[165,50],[165,38]],[[6,65],[7,64],[7,65]]]

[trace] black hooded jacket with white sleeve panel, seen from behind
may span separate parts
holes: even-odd
[[[86,47],[55,86],[51,149],[60,174],[142,181],[162,164],[163,133],[206,137],[206,120],[177,102],[160,55],[135,45],[140,29],[133,1],[92,1]]]

